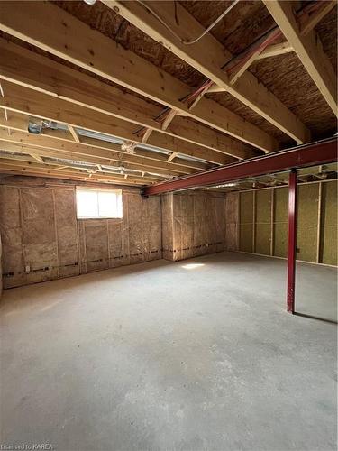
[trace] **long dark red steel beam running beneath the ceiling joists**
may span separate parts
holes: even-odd
[[[215,170],[206,170],[190,176],[160,182],[145,187],[142,194],[151,196],[179,189],[216,185],[335,161],[337,161],[336,137],[284,151],[272,152],[262,157],[236,162]]]

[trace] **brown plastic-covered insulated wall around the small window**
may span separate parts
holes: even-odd
[[[75,189],[50,179],[2,181],[4,288],[161,258],[159,197],[123,188],[122,219],[77,219]]]

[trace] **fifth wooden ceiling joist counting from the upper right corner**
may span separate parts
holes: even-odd
[[[123,140],[142,143],[142,138],[134,134],[133,124],[90,110],[84,106],[57,97],[50,97],[33,89],[3,81],[4,97],[0,97],[0,107],[25,115],[35,115],[51,121],[61,122],[73,127],[84,128],[97,133],[114,135]],[[147,142],[152,146],[169,152],[179,152],[217,164],[234,161],[224,153],[179,140],[163,133],[153,132]],[[138,152],[138,150],[136,151]]]

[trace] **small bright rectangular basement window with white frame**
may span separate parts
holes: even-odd
[[[77,188],[77,216],[78,219],[122,217],[122,190]]]

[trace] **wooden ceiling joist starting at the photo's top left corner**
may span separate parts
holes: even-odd
[[[52,27],[46,17],[53,18]],[[185,83],[132,51],[124,50],[57,5],[0,2],[0,29],[263,151],[278,148],[278,143],[268,133],[212,100],[202,99],[193,111],[189,111],[179,100],[190,90]],[[258,86],[256,80],[250,87],[251,96],[259,97]],[[293,118],[294,125],[298,122]]]

